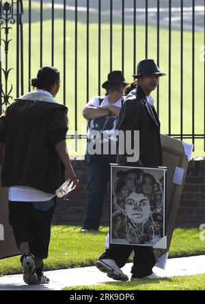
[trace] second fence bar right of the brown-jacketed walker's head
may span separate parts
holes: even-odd
[[[78,69],[78,0],[75,0],[74,8],[74,127],[77,132],[77,69]]]

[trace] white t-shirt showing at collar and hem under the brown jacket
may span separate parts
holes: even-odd
[[[36,93],[44,93],[49,97],[53,97],[51,93],[44,90],[36,90]],[[14,202],[44,202],[54,198],[55,194],[49,194],[38,189],[27,186],[13,186],[9,188],[8,200]]]

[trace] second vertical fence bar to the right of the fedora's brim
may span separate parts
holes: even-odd
[[[181,0],[181,26],[180,26],[180,139],[183,139],[183,0]]]

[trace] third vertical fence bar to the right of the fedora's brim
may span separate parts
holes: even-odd
[[[195,140],[195,0],[192,0],[192,143],[194,145]],[[194,147],[194,146],[193,146]]]

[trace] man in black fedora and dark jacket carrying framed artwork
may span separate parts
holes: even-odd
[[[139,130],[139,161],[128,163],[125,154],[118,156],[118,163],[144,167],[162,165],[160,122],[150,93],[159,84],[159,77],[164,75],[165,73],[161,73],[152,59],[141,60],[138,63],[137,74],[133,75],[135,82],[126,90],[126,98],[118,121],[118,130],[123,130],[124,136],[126,136],[126,130]],[[132,138],[132,143],[133,140]],[[131,280],[158,277],[152,272],[156,259],[152,247],[148,246],[111,244],[99,257],[96,267],[102,272],[107,272],[108,277],[127,281],[128,276],[120,268],[126,264],[133,250],[135,255]]]

